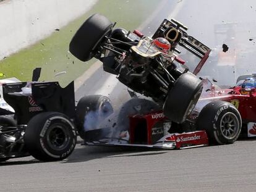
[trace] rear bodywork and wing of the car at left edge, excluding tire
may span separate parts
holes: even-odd
[[[36,71],[36,70],[35,70]],[[35,78],[35,71],[33,80]],[[24,95],[22,88],[30,84],[32,95]],[[2,85],[5,101],[14,112],[0,108],[0,161],[30,156],[24,134],[28,122],[42,112],[60,112],[75,119],[74,81],[65,88],[58,82],[20,82]]]

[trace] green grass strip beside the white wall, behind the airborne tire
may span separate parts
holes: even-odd
[[[86,63],[80,62],[68,52],[72,36],[85,19],[94,13],[100,13],[109,20],[116,21],[117,27],[133,30],[147,19],[148,14],[153,12],[158,3],[159,1],[148,0],[99,0],[82,17],[70,22],[59,31],[54,31],[45,40],[0,61],[0,73],[4,73],[4,77],[1,78],[16,77],[28,81],[32,79],[32,70],[41,67],[40,80],[59,81],[65,86],[82,75],[95,62],[95,59]],[[54,77],[56,73],[63,71],[66,74]]]

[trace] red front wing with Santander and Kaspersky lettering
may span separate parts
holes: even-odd
[[[169,121],[164,117],[162,111],[152,112],[145,115],[133,115],[130,116],[129,119],[130,144],[139,144],[142,142],[148,145],[173,143],[175,149],[208,145],[208,137],[205,131],[167,133],[167,130],[164,130],[164,123],[168,123]],[[138,133],[142,135],[139,135],[138,137]]]

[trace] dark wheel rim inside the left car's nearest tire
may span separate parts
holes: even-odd
[[[67,147],[70,140],[70,133],[65,125],[56,123],[48,130],[47,142],[49,147],[61,151]]]

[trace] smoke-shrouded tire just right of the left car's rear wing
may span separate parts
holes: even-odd
[[[113,114],[114,109],[107,96],[93,94],[84,96],[77,104],[76,122],[79,136],[87,140],[85,130],[95,130],[99,123]]]

